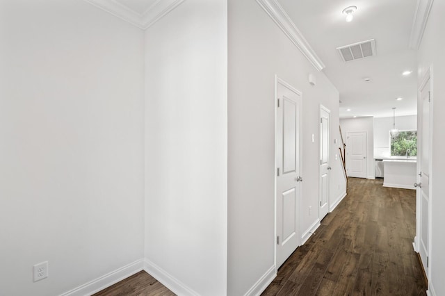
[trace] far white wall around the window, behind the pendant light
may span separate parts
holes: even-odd
[[[374,158],[391,156],[389,131],[393,128],[393,122],[393,117],[374,118]],[[396,129],[399,131],[416,131],[417,115],[396,116]]]

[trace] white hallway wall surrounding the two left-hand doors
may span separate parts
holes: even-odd
[[[309,73],[316,75],[314,87]],[[227,295],[244,295],[274,268],[275,74],[302,92],[305,232],[318,220],[319,108],[331,110],[331,139],[339,138],[339,93],[256,1],[229,0]],[[332,166],[333,174],[342,174],[339,160]]]

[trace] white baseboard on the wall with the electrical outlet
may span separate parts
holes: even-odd
[[[94,293],[99,292],[100,290],[104,290],[104,288],[108,288],[109,286],[118,283],[118,281],[122,281],[122,279],[127,279],[127,277],[130,277],[136,272],[140,272],[141,270],[143,270],[143,267],[144,267],[143,259],[134,261],[133,263],[122,266],[122,268],[118,268],[113,272],[108,272],[102,277],[98,277],[97,279],[85,283],[82,286],[79,286],[68,292],[65,292],[60,296],[92,295]]]

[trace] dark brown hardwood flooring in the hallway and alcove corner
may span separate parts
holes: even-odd
[[[415,212],[414,190],[350,178],[345,199],[293,252],[262,295],[426,295],[412,249]],[[99,295],[175,294],[142,271]]]

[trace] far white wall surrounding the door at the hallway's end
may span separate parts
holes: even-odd
[[[340,120],[341,133],[343,140],[348,145],[348,132],[366,131],[366,178],[374,179],[374,120],[373,117],[359,117]],[[348,154],[348,146],[346,146],[346,154]],[[348,156],[346,156],[346,167],[348,167]]]

